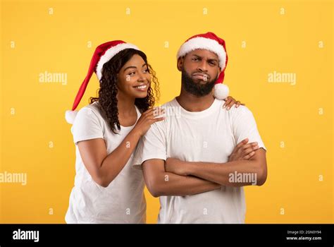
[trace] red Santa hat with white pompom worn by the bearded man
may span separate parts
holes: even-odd
[[[201,35],[194,35],[186,40],[178,50],[177,59],[185,56],[187,53],[195,49],[207,49],[217,54],[219,59],[219,67],[221,73],[216,80],[214,86],[214,96],[219,100],[225,100],[228,97],[228,86],[223,84],[225,76],[225,68],[228,64],[228,54],[226,53],[225,41],[214,34],[214,32],[206,32]]]

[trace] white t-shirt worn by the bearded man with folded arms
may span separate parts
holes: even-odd
[[[164,104],[166,119],[154,123],[140,140],[134,165],[168,157],[187,162],[224,163],[235,145],[245,138],[264,147],[252,112],[244,106],[227,111],[223,103],[214,100],[202,112],[187,112],[176,99]],[[222,186],[197,195],[161,196],[160,204],[159,223],[245,222],[242,187]]]

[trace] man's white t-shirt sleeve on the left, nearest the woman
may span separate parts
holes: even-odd
[[[141,169],[148,159],[166,160],[166,123],[153,123],[147,133],[140,139],[132,162],[133,167]]]

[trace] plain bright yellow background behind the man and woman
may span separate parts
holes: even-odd
[[[246,188],[246,222],[333,223],[332,1],[1,1],[1,172],[26,172],[27,185],[0,183],[0,222],[64,222],[75,176],[64,112],[98,44],[137,44],[162,104],[180,91],[178,48],[207,31],[225,39],[225,83],[268,148],[268,180]],[[45,71],[67,73],[67,85],[39,83]],[[296,73],[296,85],[268,83],[273,71]],[[78,109],[98,87],[93,76]],[[146,195],[156,222],[159,200]]]

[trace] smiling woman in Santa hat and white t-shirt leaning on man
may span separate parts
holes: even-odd
[[[78,106],[92,73],[100,81],[99,97]],[[71,112],[76,146],[75,186],[67,223],[144,223],[146,202],[142,171],[133,169],[132,153],[152,123],[163,120],[154,107],[159,95],[147,56],[123,41],[101,44],[94,52]],[[235,104],[229,98],[225,105]]]

